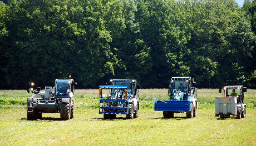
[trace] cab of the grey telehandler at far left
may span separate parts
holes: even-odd
[[[56,79],[55,95],[56,97],[73,97],[77,83],[73,79]]]

